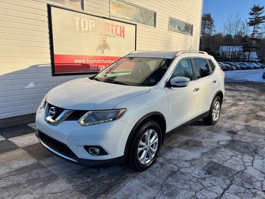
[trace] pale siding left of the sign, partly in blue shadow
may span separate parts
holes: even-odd
[[[79,77],[51,76],[45,1],[0,0],[0,119],[35,113],[51,88]]]

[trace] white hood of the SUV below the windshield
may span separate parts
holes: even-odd
[[[118,85],[82,78],[51,89],[46,101],[64,109],[107,110],[149,91],[150,87]]]

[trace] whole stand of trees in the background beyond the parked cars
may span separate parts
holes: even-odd
[[[237,11],[224,20],[223,29],[215,34],[215,22],[210,13],[204,13],[201,19],[200,50],[215,55],[219,60],[250,60],[251,51],[259,59],[265,58],[265,16],[264,6],[250,8],[249,18],[242,19]],[[222,54],[220,46],[224,47]],[[221,56],[219,55],[221,54]]]

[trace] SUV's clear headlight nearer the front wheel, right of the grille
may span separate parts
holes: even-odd
[[[104,123],[116,120],[120,118],[126,109],[108,110],[108,111],[89,111],[78,122],[82,126],[97,125],[98,123]]]

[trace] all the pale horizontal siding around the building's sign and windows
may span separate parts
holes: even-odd
[[[202,0],[126,2],[156,12],[156,27],[137,24],[137,49],[199,48]],[[35,113],[51,88],[85,77],[52,77],[47,3],[0,0],[0,119]],[[88,14],[109,18],[109,6],[109,0],[84,0]],[[169,17],[193,24],[193,36],[169,32]]]

